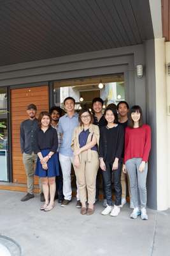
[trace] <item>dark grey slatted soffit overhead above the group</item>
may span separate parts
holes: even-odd
[[[0,66],[143,44],[149,0],[0,0]]]

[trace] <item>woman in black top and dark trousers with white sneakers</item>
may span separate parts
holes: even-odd
[[[101,128],[99,142],[100,166],[103,170],[104,189],[107,207],[101,214],[117,216],[120,213],[122,186],[120,182],[122,170],[122,151],[124,148],[124,128],[118,123],[117,110],[106,108],[104,117],[108,124]],[[112,209],[111,176],[113,173],[115,188],[115,205]]]

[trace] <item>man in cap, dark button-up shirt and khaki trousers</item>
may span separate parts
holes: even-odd
[[[21,201],[27,201],[34,197],[34,166],[37,160],[37,155],[34,154],[35,132],[38,128],[38,120],[36,118],[36,106],[30,104],[27,106],[27,114],[29,119],[23,121],[20,125],[20,148],[22,159],[27,175],[27,195]],[[44,200],[41,193],[41,201]]]

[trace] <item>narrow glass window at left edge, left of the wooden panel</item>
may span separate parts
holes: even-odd
[[[7,88],[0,88],[0,180],[8,181],[8,115],[7,115]]]

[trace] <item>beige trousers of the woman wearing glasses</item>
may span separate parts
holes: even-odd
[[[91,161],[87,161],[87,151],[81,153],[80,168],[75,168],[76,180],[80,192],[81,203],[95,203],[96,196],[96,176],[99,169],[99,156],[97,151],[91,150]],[[74,160],[73,160],[74,163]]]

